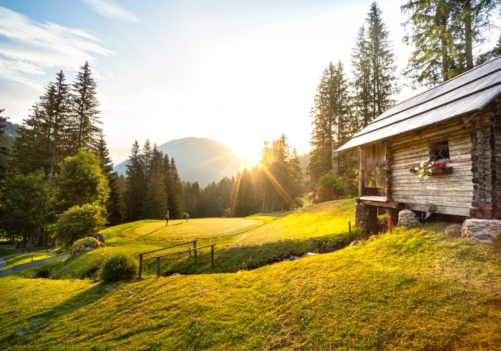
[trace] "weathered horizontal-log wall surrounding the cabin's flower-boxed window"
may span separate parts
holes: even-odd
[[[426,212],[470,216],[473,182],[471,172],[471,131],[473,123],[461,118],[428,126],[391,138],[388,142],[391,198],[405,208]],[[448,140],[452,174],[426,179],[410,173],[410,169],[426,161],[431,144]]]

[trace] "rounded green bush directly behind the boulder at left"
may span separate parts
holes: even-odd
[[[71,246],[76,240],[89,236],[106,224],[104,208],[97,204],[75,205],[65,211],[53,226],[56,237]]]

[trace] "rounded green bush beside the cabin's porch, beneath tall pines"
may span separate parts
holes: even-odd
[[[320,202],[354,197],[357,195],[357,186],[352,179],[331,170],[318,179],[317,195]]]

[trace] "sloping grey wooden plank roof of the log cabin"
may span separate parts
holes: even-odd
[[[338,151],[479,111],[501,93],[501,56],[388,108]]]

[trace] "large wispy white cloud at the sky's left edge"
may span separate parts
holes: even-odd
[[[38,22],[0,6],[0,76],[29,83],[50,68],[75,70],[112,51],[96,35],[79,28]]]

